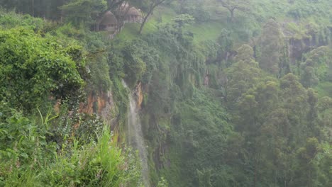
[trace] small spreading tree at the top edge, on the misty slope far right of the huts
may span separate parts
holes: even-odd
[[[231,13],[231,22],[234,21],[234,13],[236,10],[245,11],[248,9],[249,1],[248,0],[218,0],[221,3],[221,6],[228,9]]]

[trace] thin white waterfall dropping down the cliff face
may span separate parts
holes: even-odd
[[[128,88],[125,81],[122,81],[122,83],[123,86]],[[128,111],[128,142],[139,152],[142,165],[143,183],[145,187],[150,187],[148,156],[143,138],[142,124],[140,123],[140,116],[138,115],[137,105],[133,98],[133,94],[129,94],[128,98],[130,107]]]

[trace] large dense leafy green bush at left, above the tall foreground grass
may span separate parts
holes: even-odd
[[[23,28],[0,33],[0,98],[13,107],[31,109],[47,96],[77,96],[84,85],[80,47],[64,47]]]

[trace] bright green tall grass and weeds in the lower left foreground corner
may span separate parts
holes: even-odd
[[[139,162],[118,148],[110,130],[90,142],[69,137],[58,145],[50,139],[52,120],[13,113],[0,123],[1,186],[138,186]]]

